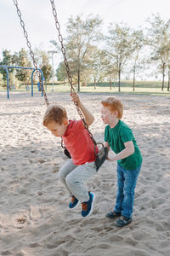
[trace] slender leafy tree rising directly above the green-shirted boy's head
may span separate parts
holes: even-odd
[[[107,52],[110,57],[110,62],[116,66],[118,75],[118,87],[121,91],[121,73],[127,63],[127,60],[133,55],[135,50],[134,34],[130,27],[111,23],[109,26],[109,36],[106,37]]]

